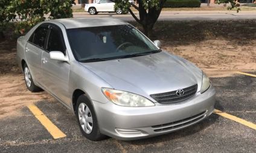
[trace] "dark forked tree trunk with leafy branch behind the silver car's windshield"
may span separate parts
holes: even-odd
[[[152,36],[153,27],[162,11],[162,7],[167,0],[138,0],[138,7],[129,0],[113,1],[115,2],[115,9],[121,8],[123,12],[129,11],[136,22],[142,26],[144,34],[150,37]],[[131,6],[139,11],[139,17],[135,16],[130,9]]]

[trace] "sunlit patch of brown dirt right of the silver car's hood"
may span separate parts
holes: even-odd
[[[254,44],[234,47],[229,45],[228,40],[205,40],[193,45],[166,45],[164,49],[196,63],[210,77],[229,76],[235,71],[256,69]]]

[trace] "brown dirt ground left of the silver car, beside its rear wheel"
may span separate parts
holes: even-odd
[[[16,42],[0,42],[0,119],[17,115],[24,105],[53,99],[48,93],[31,93],[24,84],[22,71],[16,64]]]

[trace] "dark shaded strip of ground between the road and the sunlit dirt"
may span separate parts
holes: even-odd
[[[130,22],[142,30],[136,22]],[[232,27],[232,28],[231,28]],[[158,21],[152,39],[173,45],[189,45],[203,40],[228,40],[244,45],[256,40],[255,20]]]

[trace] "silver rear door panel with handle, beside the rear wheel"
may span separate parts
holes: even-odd
[[[27,61],[27,65],[32,73],[34,82],[39,84],[42,79],[42,73],[41,73],[42,53],[43,53],[42,49],[32,45],[31,43],[27,43],[27,46],[25,48],[25,58]]]

